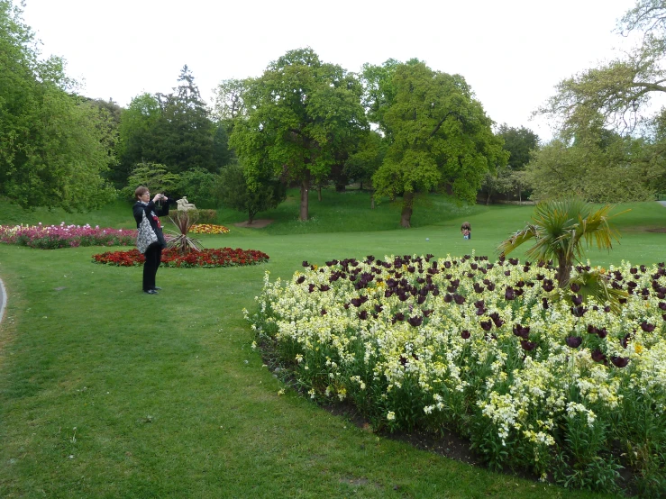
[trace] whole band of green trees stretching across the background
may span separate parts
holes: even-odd
[[[252,220],[297,186],[306,221],[310,191],[353,181],[372,206],[401,204],[405,227],[433,192],[470,203],[650,199],[666,191],[666,114],[645,112],[666,91],[665,14],[661,0],[640,0],[625,15],[619,31],[643,32],[643,44],[563,80],[538,111],[558,125],[541,143],[496,126],[461,75],[418,59],[353,73],[310,48],[222,81],[210,107],[185,66],[170,94],[122,108],[79,95],[61,59],[41,59],[20,8],[0,0],[0,195],[85,210],[144,184]]]

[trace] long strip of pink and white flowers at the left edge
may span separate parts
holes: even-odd
[[[30,248],[58,249],[78,246],[130,246],[135,229],[100,229],[90,225],[0,225],[0,242]]]

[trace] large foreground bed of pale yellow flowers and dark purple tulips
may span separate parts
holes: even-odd
[[[458,431],[491,467],[567,486],[666,483],[666,270],[599,268],[621,311],[517,259],[333,260],[269,282],[258,341],[376,429]],[[579,268],[579,270],[581,270]],[[663,490],[661,488],[661,490]]]

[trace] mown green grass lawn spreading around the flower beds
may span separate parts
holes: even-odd
[[[294,194],[293,192],[290,194]],[[313,193],[314,194],[314,193]],[[363,193],[312,196],[260,213],[267,229],[237,229],[207,247],[260,249],[266,265],[162,268],[158,296],[141,293],[141,268],[94,265],[101,248],[0,245],[9,303],[0,325],[0,497],[598,497],[472,467],[375,435],[287,390],[251,350],[242,308],[263,274],[288,278],[302,260],[369,254],[494,256],[530,207],[461,206],[432,196],[415,228],[396,229],[388,203]],[[604,265],[666,257],[666,208],[634,204]],[[95,213],[23,213],[0,203],[0,223],[131,227],[129,204]],[[473,228],[462,240],[463,220]],[[347,231],[343,231],[344,229]],[[429,239],[429,240],[426,240]]]

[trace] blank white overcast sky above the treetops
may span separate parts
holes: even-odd
[[[424,60],[459,73],[497,123],[551,136],[530,114],[561,79],[613,56],[612,31],[634,0],[26,0],[43,55],[68,61],[85,95],[127,105],[169,93],[183,65],[202,96],[225,78],[260,76],[287,50],[325,62]]]

